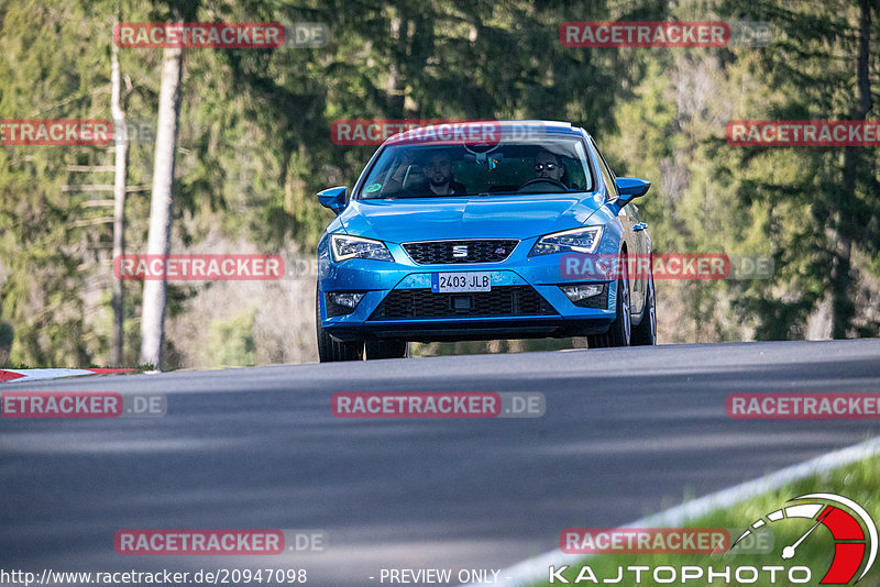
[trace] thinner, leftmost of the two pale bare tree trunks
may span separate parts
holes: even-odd
[[[122,22],[122,11],[117,7],[117,23]],[[125,180],[129,156],[129,133],[125,111],[121,104],[122,76],[119,69],[119,47],[112,44],[110,111],[113,114],[116,178],[113,181],[113,259],[125,254]],[[113,366],[121,367],[125,336],[124,288],[122,279],[113,279]]]

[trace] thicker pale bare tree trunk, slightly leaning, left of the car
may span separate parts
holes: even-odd
[[[183,48],[164,49],[162,89],[158,100],[156,151],[153,163],[153,196],[150,204],[150,255],[170,253],[172,203],[174,193],[174,155],[177,148],[177,115],[180,110],[180,74]],[[163,264],[164,265],[164,264]],[[141,363],[162,368],[162,347],[165,342],[165,276],[144,281],[141,318]]]

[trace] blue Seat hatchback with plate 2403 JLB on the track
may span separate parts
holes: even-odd
[[[627,269],[628,257],[650,258],[631,203],[650,185],[615,177],[568,123],[388,139],[351,191],[318,193],[337,214],[318,244],[321,362],[404,357],[411,341],[654,344],[653,279]]]

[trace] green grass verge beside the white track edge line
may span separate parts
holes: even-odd
[[[787,503],[789,499],[814,492],[837,494],[848,497],[861,505],[873,518],[875,523],[880,522],[880,456],[866,458],[827,473],[792,483],[778,490],[756,496],[752,499],[735,505],[728,509],[716,510],[707,516],[690,520],[684,525],[686,528],[737,528],[745,530],[754,521],[765,517],[767,513],[793,505],[794,502]],[[845,507],[843,507],[843,509],[847,510]],[[618,566],[622,566],[624,567],[624,576],[623,582],[618,585],[632,585],[635,584],[635,574],[626,571],[626,567],[630,565],[650,567],[669,565],[676,567],[676,569],[682,565],[695,565],[704,569],[711,566],[716,573],[723,571],[726,566],[730,566],[732,583],[729,585],[741,585],[736,583],[733,575],[735,571],[734,567],[736,566],[754,566],[760,569],[762,566],[776,565],[788,568],[796,565],[811,568],[812,579],[806,585],[818,585],[834,556],[833,539],[831,532],[826,528],[817,528],[815,532],[804,540],[803,543],[799,545],[793,560],[783,561],[780,557],[782,549],[794,544],[814,523],[813,520],[789,519],[768,524],[767,528],[769,528],[773,534],[773,552],[769,554],[597,554],[585,556],[582,562],[572,564],[562,573],[562,576],[571,584],[574,584],[574,579],[578,577],[581,567],[587,565],[592,568],[601,585],[603,578],[609,580],[615,579],[618,576]],[[603,527],[600,520],[597,520],[596,523],[582,525],[591,525],[594,528]],[[734,538],[734,540],[736,540],[736,538]],[[723,577],[715,578],[715,580],[710,584],[705,576],[700,579],[689,578],[682,584],[680,571],[676,571],[676,580],[672,585],[693,587],[725,585],[725,579]],[[858,577],[860,573],[861,569],[859,569],[856,576]],[[666,577],[666,575],[662,576]],[[560,582],[556,582],[552,585],[560,584]],[[758,577],[758,582],[754,585],[768,584],[769,574],[761,574]],[[541,582],[535,585],[550,584]],[[596,584],[590,580],[582,580],[579,585]],[[650,573],[644,574],[639,585],[654,585],[652,575]],[[788,575],[781,572],[777,576],[776,585],[789,585]],[[859,587],[880,586],[880,561],[875,563],[872,569],[858,585]]]

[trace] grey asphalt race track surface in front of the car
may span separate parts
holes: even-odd
[[[0,386],[13,390],[164,392],[168,412],[0,420],[0,567],[306,568],[308,585],[381,585],[382,568],[506,567],[556,547],[564,528],[624,524],[880,435],[880,420],[725,413],[732,392],[878,394],[880,340]],[[547,411],[536,419],[338,419],[330,411],[337,391],[541,391]],[[319,554],[277,556],[114,552],[118,530],[144,528],[323,529],[330,544]]]

